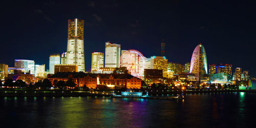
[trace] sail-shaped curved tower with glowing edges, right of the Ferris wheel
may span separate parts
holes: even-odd
[[[198,80],[201,79],[201,75],[207,74],[207,59],[203,45],[200,44],[195,48],[190,63],[190,73],[195,74]]]

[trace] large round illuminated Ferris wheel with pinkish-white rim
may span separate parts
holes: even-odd
[[[145,57],[137,50],[127,50],[121,57],[119,67],[126,67],[131,75],[143,78],[145,68]]]

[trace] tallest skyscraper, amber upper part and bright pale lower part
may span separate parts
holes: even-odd
[[[85,72],[83,50],[83,20],[70,20],[68,25],[68,48],[66,64],[77,65],[78,72]]]

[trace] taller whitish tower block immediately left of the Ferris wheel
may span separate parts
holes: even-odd
[[[118,68],[121,46],[105,42],[105,68]]]

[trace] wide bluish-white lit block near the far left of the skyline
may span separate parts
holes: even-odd
[[[25,73],[35,74],[35,61],[27,59],[15,59],[14,67]]]

